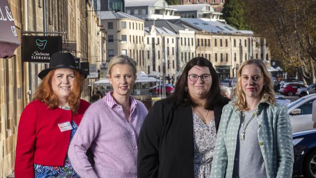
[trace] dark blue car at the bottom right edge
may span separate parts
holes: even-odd
[[[316,178],[316,129],[293,133],[293,176]]]

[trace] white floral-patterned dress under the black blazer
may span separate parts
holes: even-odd
[[[209,178],[216,142],[214,119],[209,125],[193,112],[194,178]]]

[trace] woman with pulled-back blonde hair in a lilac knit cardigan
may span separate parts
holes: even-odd
[[[113,90],[88,108],[69,148],[69,158],[82,178],[137,178],[137,141],[146,107],[130,92],[136,81],[136,62],[127,55],[109,62]],[[94,167],[86,156],[94,155]]]

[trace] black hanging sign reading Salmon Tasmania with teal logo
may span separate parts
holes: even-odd
[[[61,36],[22,36],[23,62],[49,63],[53,53],[61,51]]]

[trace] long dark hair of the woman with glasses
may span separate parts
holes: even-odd
[[[197,106],[197,103],[194,103],[188,93],[188,73],[193,68],[193,66],[201,66],[201,67],[208,67],[211,72],[212,77],[212,85],[211,89],[207,94],[207,102],[205,105],[206,109],[213,110],[215,105],[223,105],[228,102],[228,98],[224,97],[221,94],[220,87],[219,87],[219,79],[218,75],[212,66],[212,63],[204,57],[194,57],[191,59],[187,65],[185,66],[184,70],[181,73],[179,80],[176,83],[175,92],[167,98],[170,101],[175,101],[175,107],[180,105],[192,105]]]

